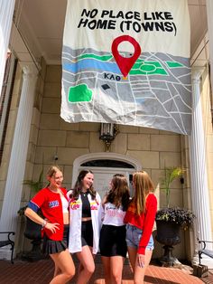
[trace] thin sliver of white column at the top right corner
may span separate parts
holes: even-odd
[[[206,0],[207,5],[207,18],[208,18],[208,40],[209,40],[209,53],[210,53],[210,67],[213,70],[213,1]],[[213,86],[213,72],[211,71],[211,86]]]

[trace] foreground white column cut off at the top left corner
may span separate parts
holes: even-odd
[[[6,53],[14,15],[14,0],[0,1],[0,96],[5,74]]]

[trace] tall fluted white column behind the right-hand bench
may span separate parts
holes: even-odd
[[[211,241],[211,222],[208,195],[208,176],[206,147],[204,137],[204,127],[202,119],[202,106],[200,98],[200,77],[203,68],[192,70],[192,129],[189,137],[190,145],[190,186],[192,211],[196,215],[195,219],[195,242],[198,250],[198,241]],[[198,261],[198,251],[195,251],[194,262]],[[205,259],[205,256],[204,256]],[[202,264],[206,260],[202,260]],[[213,267],[213,260],[208,264]]]

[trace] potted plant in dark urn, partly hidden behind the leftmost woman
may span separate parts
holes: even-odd
[[[32,192],[34,194],[38,193],[40,189],[42,188],[42,181],[43,181],[43,171],[39,175],[38,180],[24,180],[23,185],[29,185],[32,189]],[[20,216],[24,215],[24,211],[27,208],[27,205],[21,207],[18,211],[18,214]],[[42,212],[39,212],[39,214],[42,216]],[[33,222],[30,218],[26,218],[25,223],[25,230],[24,230],[24,236],[32,240],[32,250],[23,252],[22,258],[24,260],[41,260],[43,258],[42,251],[41,251],[41,243],[42,243],[42,225]]]

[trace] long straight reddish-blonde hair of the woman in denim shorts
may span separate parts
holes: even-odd
[[[133,203],[135,205],[135,211],[138,215],[145,212],[145,200],[146,196],[153,192],[153,182],[150,176],[144,172],[135,172],[133,175],[134,183],[134,197]]]

